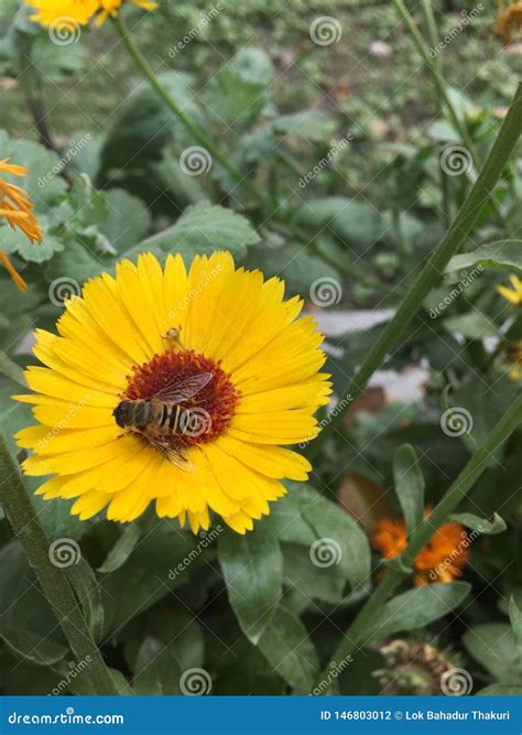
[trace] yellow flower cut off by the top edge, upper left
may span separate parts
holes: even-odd
[[[45,28],[52,26],[56,30],[65,28],[73,30],[74,23],[87,25],[94,20],[101,25],[110,15],[116,18],[122,6],[131,3],[143,8],[143,10],[155,10],[157,2],[149,0],[24,0],[36,11],[31,20],[41,23]]]

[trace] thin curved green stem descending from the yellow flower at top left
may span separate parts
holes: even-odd
[[[191,118],[187,115],[185,115],[183,109],[171,97],[167,89],[160,82],[153,68],[141,53],[140,48],[138,47],[138,44],[134,42],[134,39],[130,35],[126,24],[121,19],[121,13],[118,13],[116,18],[112,18],[112,22],[118,33],[120,34],[127,51],[130,53],[130,55],[137,63],[138,67],[140,68],[143,76],[146,78],[151,87],[155,89],[155,91],[160,95],[160,97],[168,107],[168,109],[172,110],[172,112],[174,112],[176,118],[185,126],[185,128],[191,132],[193,138],[197,140],[197,142],[200,143],[204,148],[206,148],[207,151],[210,153],[210,155],[216,161],[218,161],[224,166],[224,169],[226,169],[228,173],[239,184],[244,184],[246,186],[248,186],[248,188],[255,196],[255,198],[264,203],[264,197],[258,190],[255,184],[253,184],[248,177],[246,177],[244,174],[242,174],[238,169],[236,169],[236,166],[233,166],[230,163],[227,156],[224,155],[224,153],[221,153],[218,145],[216,145],[216,143],[203,130],[199,130],[199,128],[196,125],[194,125]]]

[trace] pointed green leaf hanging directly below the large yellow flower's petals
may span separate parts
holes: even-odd
[[[262,523],[244,536],[226,531],[218,540],[218,559],[241,630],[257,645],[283,592],[279,542]]]

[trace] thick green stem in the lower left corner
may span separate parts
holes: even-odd
[[[45,597],[96,694],[119,694],[101,652],[89,633],[65,572],[50,560],[50,544],[25,491],[20,472],[0,435],[0,501],[28,555]]]

